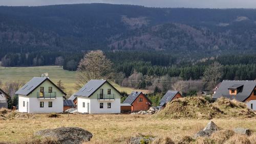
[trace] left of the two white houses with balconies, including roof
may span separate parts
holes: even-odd
[[[18,94],[19,112],[63,112],[63,96],[66,93],[47,77],[34,77],[15,94]]]

